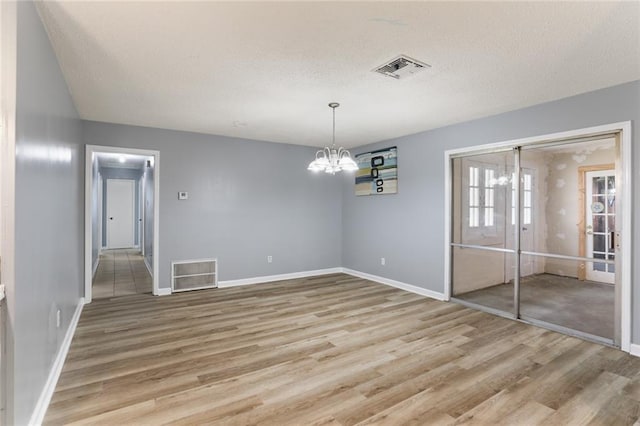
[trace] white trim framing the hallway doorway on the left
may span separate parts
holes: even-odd
[[[93,281],[93,265],[91,264],[91,248],[93,230],[91,227],[91,189],[93,187],[93,158],[96,154],[133,154],[153,157],[153,295],[158,296],[159,291],[159,253],[160,253],[160,151],[121,148],[115,146],[87,145],[85,150],[85,179],[84,179],[84,298],[85,303],[90,303],[91,284]],[[95,236],[98,237],[97,235]]]

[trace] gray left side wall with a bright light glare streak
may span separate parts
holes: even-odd
[[[83,294],[84,146],[81,122],[35,6],[17,7],[15,383],[8,420],[22,425]]]

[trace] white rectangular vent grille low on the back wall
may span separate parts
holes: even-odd
[[[171,290],[188,291],[218,287],[218,260],[171,262]]]

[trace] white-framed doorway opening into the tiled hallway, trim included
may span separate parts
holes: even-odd
[[[158,291],[159,152],[87,146],[85,302]]]

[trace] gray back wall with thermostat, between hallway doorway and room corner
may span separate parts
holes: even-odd
[[[219,280],[340,266],[342,185],[338,176],[307,171],[315,149],[97,122],[83,126],[87,144],[160,151],[161,288],[170,287],[174,260],[216,257]],[[178,191],[188,191],[189,199],[178,200]]]

